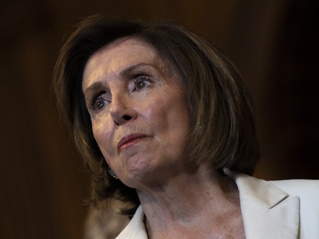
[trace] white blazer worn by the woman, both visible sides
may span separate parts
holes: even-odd
[[[319,239],[319,180],[265,181],[225,172],[239,190],[246,239]],[[148,239],[141,205],[116,239]]]

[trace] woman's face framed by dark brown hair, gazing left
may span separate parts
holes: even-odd
[[[121,38],[88,60],[82,89],[93,135],[129,187],[182,170],[189,115],[181,77],[155,48]]]

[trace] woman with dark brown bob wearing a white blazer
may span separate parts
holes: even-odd
[[[117,199],[134,215],[118,239],[319,237],[317,181],[249,176],[259,157],[251,97],[202,37],[88,17],[61,50],[54,87],[92,203]]]

